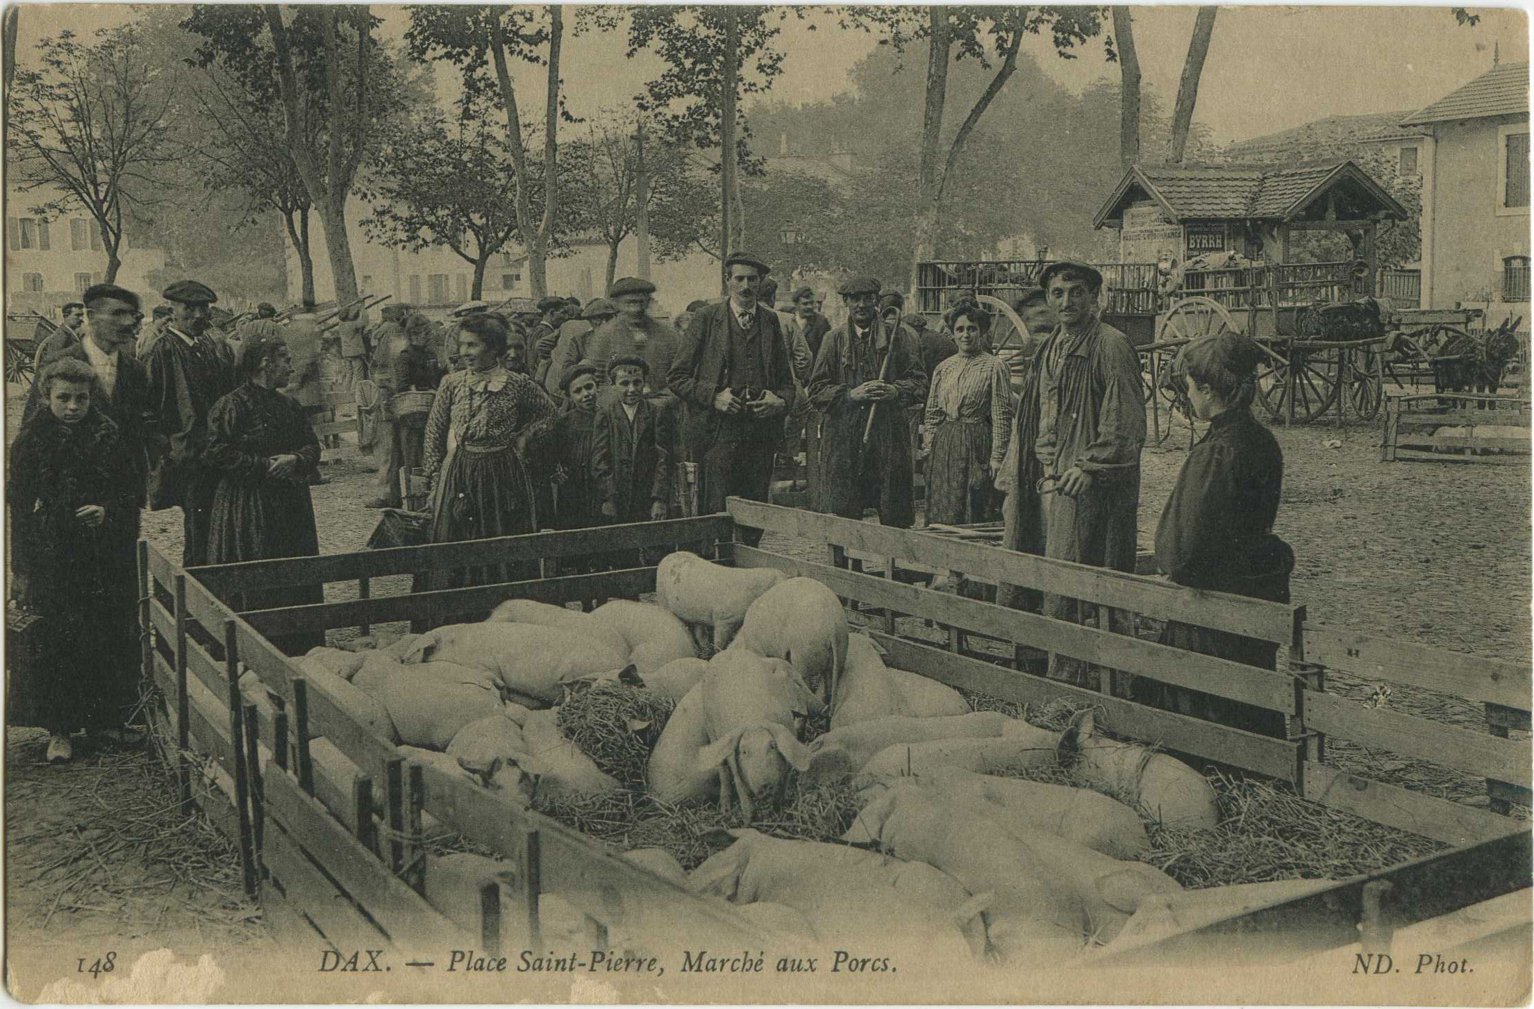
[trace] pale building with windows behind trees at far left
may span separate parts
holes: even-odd
[[[23,193],[6,187],[6,311],[57,319],[64,304],[106,279],[106,248],[100,224],[84,210],[71,209],[52,219],[31,212],[48,199],[51,195],[43,190]],[[124,238],[118,258],[117,282],[150,296],[149,274],[164,268],[166,253],[135,247]]]

